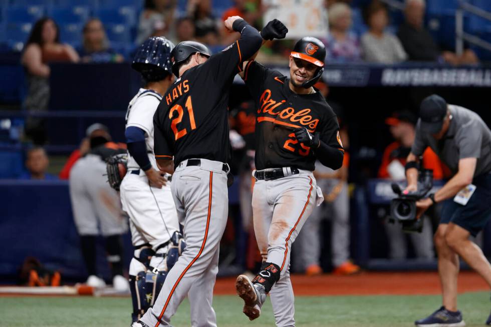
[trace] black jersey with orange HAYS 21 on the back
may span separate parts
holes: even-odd
[[[250,29],[249,37],[242,32],[238,41],[185,71],[167,90],[153,119],[157,159],[174,156],[175,165],[190,158],[228,161],[229,89],[242,60],[261,46],[259,32],[249,25],[244,29]]]

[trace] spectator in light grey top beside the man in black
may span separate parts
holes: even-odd
[[[372,2],[365,12],[365,23],[369,30],[361,37],[365,61],[395,64],[407,59],[399,39],[385,31],[388,22],[387,8],[378,0]]]

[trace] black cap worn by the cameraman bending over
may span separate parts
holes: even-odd
[[[447,114],[447,103],[439,95],[432,94],[421,102],[419,118],[421,118],[421,130],[430,134],[441,131],[443,120]]]

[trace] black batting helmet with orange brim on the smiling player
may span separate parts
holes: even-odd
[[[290,54],[293,58],[308,61],[319,67],[314,77],[302,84],[302,87],[308,89],[319,81],[322,73],[324,73],[324,60],[326,58],[326,47],[321,40],[313,37],[305,37],[300,39],[293,48]]]

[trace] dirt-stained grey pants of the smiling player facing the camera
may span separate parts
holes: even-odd
[[[254,185],[254,231],[259,250],[263,261],[280,267],[280,279],[270,292],[279,327],[295,326],[295,297],[289,271],[292,243],[322,199],[313,173],[307,170],[280,179],[257,180]]]

